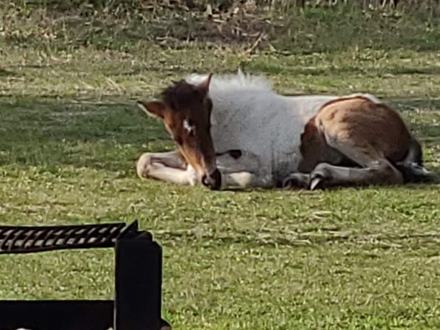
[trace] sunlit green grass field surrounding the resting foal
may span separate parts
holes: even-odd
[[[9,28],[30,26],[26,17]],[[356,47],[356,39],[365,45],[393,34],[353,31],[343,47],[311,51],[297,39],[290,53],[252,54],[240,45],[177,49],[121,35],[106,46],[97,38],[78,45],[68,39],[73,30],[43,42],[44,34],[13,37],[9,29],[0,39],[0,222],[139,219],[163,247],[163,316],[174,329],[438,328],[438,185],[213,192],[134,173],[139,153],[173,148],[135,100],[187,72],[238,67],[267,75],[279,92],[382,97],[438,170],[440,37],[415,31],[419,25],[405,30],[414,34],[405,32],[412,41],[402,46]],[[403,35],[406,25],[396,26]],[[110,298],[112,255],[1,256],[0,297]]]

